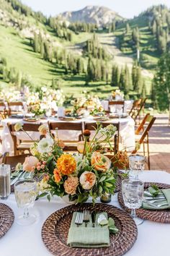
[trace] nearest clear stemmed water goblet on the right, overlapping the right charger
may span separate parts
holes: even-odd
[[[136,225],[143,223],[143,219],[138,218],[135,209],[140,208],[143,201],[143,182],[137,179],[125,179],[122,181],[122,197],[125,206],[132,209],[131,216]]]

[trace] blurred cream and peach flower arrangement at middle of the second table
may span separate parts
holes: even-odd
[[[76,98],[74,101],[71,101],[71,104],[73,105],[73,110],[71,112],[73,116],[81,116],[86,111],[89,111],[89,114],[104,112],[104,108],[102,107],[98,96],[92,96],[86,92],[84,93],[83,97]]]

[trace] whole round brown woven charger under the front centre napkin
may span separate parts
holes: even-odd
[[[104,248],[71,248],[68,247],[67,237],[68,229],[71,224],[73,212],[84,209],[90,211],[107,212],[109,217],[114,218],[115,224],[119,229],[116,235],[110,235],[110,247]],[[138,230],[133,219],[125,211],[112,205],[97,203],[93,206],[91,203],[84,205],[71,205],[51,214],[42,226],[42,241],[48,250],[55,256],[120,256],[124,255],[135,243]]]

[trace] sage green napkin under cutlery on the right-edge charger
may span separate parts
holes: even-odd
[[[162,200],[158,200],[156,202],[152,202],[152,205],[149,205],[147,202],[143,202],[142,204],[142,208],[143,209],[146,209],[146,210],[166,210],[166,209],[170,209],[170,189],[161,189],[161,192],[159,194],[159,196],[164,196],[165,199],[162,199]],[[153,197],[153,200],[156,199],[158,197]],[[144,197],[144,199],[147,200],[147,196]],[[148,200],[149,202],[149,200]],[[157,205],[161,205],[163,203],[166,203],[167,202],[167,205],[163,205],[161,207],[158,207]]]

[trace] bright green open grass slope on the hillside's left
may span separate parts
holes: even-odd
[[[89,38],[89,35],[86,35]],[[83,35],[74,39],[76,43],[84,40]],[[91,82],[85,86],[85,77],[64,74],[62,67],[56,67],[40,58],[40,54],[32,51],[29,40],[20,38],[12,27],[4,27],[0,25],[0,53],[7,60],[10,67],[16,67],[23,73],[30,74],[36,85],[50,84],[53,77],[55,79],[63,79],[63,87],[65,93],[79,95],[82,90],[90,90],[102,97],[106,97],[112,90],[110,85],[104,82]],[[0,81],[1,85],[2,82]]]

